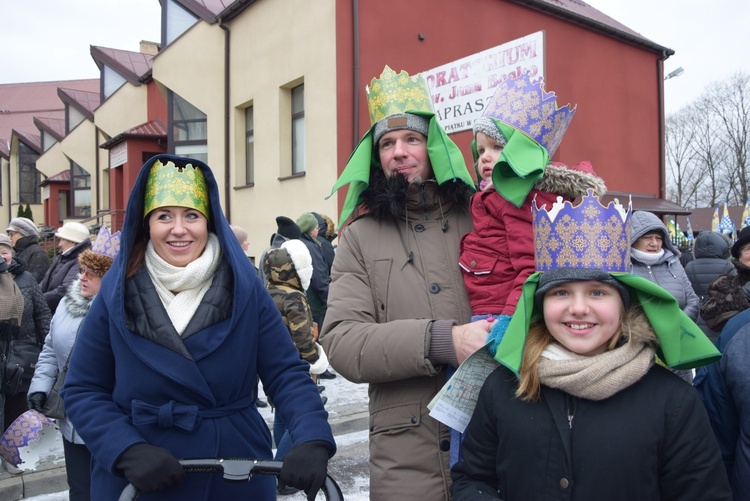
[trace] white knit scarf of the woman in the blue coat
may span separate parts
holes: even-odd
[[[221,262],[221,246],[213,233],[208,234],[208,242],[203,254],[184,268],[172,266],[154,250],[153,243],[146,248],[146,269],[156,287],[169,319],[177,332],[185,332],[193,318],[201,299],[211,287],[214,274]]]

